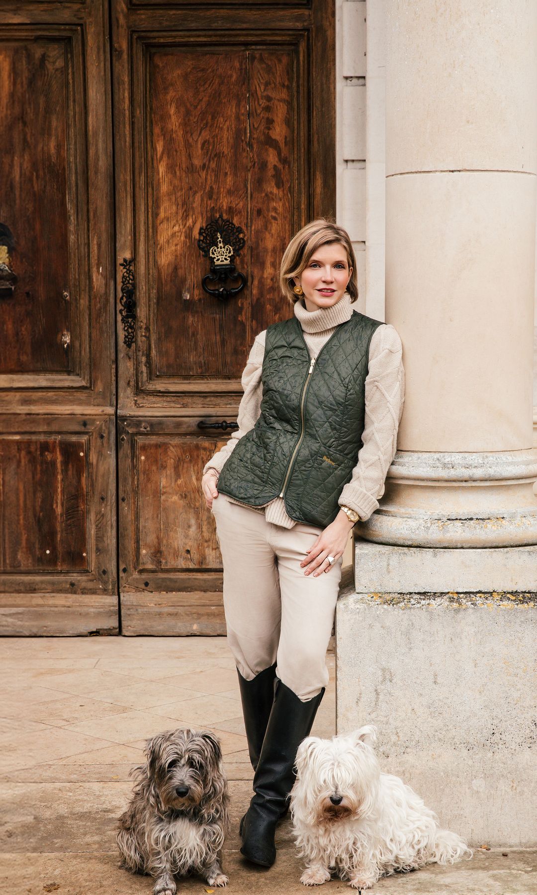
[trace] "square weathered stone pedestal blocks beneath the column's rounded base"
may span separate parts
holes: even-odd
[[[537,846],[536,558],[358,543],[337,603],[337,731],[375,724],[381,769],[473,846]]]

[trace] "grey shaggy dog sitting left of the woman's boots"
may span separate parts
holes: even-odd
[[[221,850],[229,829],[227,781],[217,737],[188,728],[148,740],[146,763],[119,819],[121,866],[151,874],[155,895],[175,895],[174,876],[198,872],[226,886]]]

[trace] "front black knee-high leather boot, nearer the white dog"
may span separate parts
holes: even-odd
[[[239,828],[241,853],[254,864],[270,867],[276,860],[274,837],[279,818],[286,813],[293,788],[296,750],[308,737],[324,695],[324,688],[303,703],[277,680],[276,694],[260,759],[253,778],[254,796]]]

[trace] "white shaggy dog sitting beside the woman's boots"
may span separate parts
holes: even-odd
[[[472,857],[413,789],[381,773],[375,740],[368,726],[299,746],[291,815],[306,886],[327,882],[335,870],[354,889],[370,889],[384,874]]]

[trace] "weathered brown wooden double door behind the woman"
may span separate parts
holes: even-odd
[[[3,6],[4,634],[223,633],[201,471],[290,314],[287,241],[336,210],[333,6]],[[218,217],[227,298],[201,286]]]

